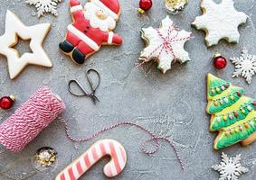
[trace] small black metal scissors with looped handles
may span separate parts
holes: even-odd
[[[90,72],[93,72],[93,73],[95,73],[95,74],[98,76],[98,84],[97,84],[96,86],[94,86],[93,83],[92,83],[92,81],[91,81]],[[70,92],[71,94],[75,95],[75,96],[78,96],[78,97],[81,97],[81,96],[88,96],[88,97],[91,98],[91,100],[93,101],[93,103],[96,104],[97,102],[100,102],[100,100],[98,99],[98,97],[95,95],[95,94],[96,94],[96,91],[97,91],[97,89],[98,89],[98,87],[100,86],[100,73],[99,73],[97,70],[95,70],[95,69],[93,69],[93,68],[90,68],[90,69],[88,69],[88,70],[86,71],[85,75],[86,75],[87,80],[88,80],[88,82],[89,82],[89,84],[90,84],[90,89],[91,89],[92,93],[89,94],[89,93],[82,87],[82,85],[81,85],[77,80],[71,80],[71,81],[69,82],[69,92]],[[81,92],[82,92],[83,94],[76,94],[76,93],[74,93],[74,92],[72,91],[72,89],[71,89],[71,85],[72,85],[72,84],[77,85],[77,86],[81,89]]]

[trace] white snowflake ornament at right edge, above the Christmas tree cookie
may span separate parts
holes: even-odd
[[[235,71],[232,77],[242,76],[248,84],[251,84],[251,76],[256,73],[256,56],[248,54],[248,50],[243,48],[240,58],[231,58],[235,65]]]

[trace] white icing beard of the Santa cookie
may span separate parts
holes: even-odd
[[[84,6],[84,16],[90,21],[90,25],[93,28],[99,28],[100,31],[114,30],[116,27],[116,21],[111,16],[108,16],[105,20],[100,19],[96,12],[100,10],[100,7],[93,3],[87,3]]]

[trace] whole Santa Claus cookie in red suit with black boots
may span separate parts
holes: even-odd
[[[100,50],[101,45],[119,45],[122,38],[113,32],[119,20],[119,0],[90,0],[82,8],[79,0],[70,0],[73,23],[59,47],[74,62]]]

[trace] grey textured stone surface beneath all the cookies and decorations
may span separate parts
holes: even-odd
[[[147,134],[133,127],[110,130],[98,139],[111,138],[119,140],[128,151],[128,164],[121,175],[115,179],[217,179],[218,173],[211,166],[221,160],[222,151],[213,150],[213,139],[216,133],[208,131],[210,116],[205,114],[205,76],[211,72],[216,76],[231,80],[234,85],[245,88],[245,92],[256,96],[256,77],[251,85],[244,79],[232,79],[234,67],[229,63],[222,71],[216,71],[211,65],[211,56],[218,50],[227,58],[239,56],[242,47],[256,53],[256,2],[255,0],[235,0],[236,8],[250,16],[249,21],[242,25],[241,42],[230,45],[222,41],[218,46],[207,49],[204,45],[204,32],[195,31],[190,23],[195,16],[202,14],[199,0],[190,0],[184,14],[171,16],[181,29],[193,31],[195,39],[186,43],[185,49],[190,53],[192,61],[186,65],[175,64],[173,70],[162,75],[154,66],[146,76],[144,71],[135,67],[139,52],[144,48],[138,31],[142,26],[158,27],[160,20],[166,17],[163,0],[154,0],[154,6],[147,16],[137,16],[138,0],[121,0],[122,15],[116,32],[124,38],[120,48],[104,47],[99,53],[89,58],[83,66],[76,66],[70,58],[58,50],[66,26],[71,23],[68,1],[58,5],[59,16],[46,15],[39,20],[34,16],[33,6],[24,4],[24,0],[1,0],[0,33],[5,31],[5,12],[12,10],[27,25],[36,23],[52,23],[52,30],[44,41],[53,68],[27,67],[15,80],[10,80],[7,73],[5,57],[0,57],[0,94],[14,94],[17,102],[10,111],[0,112],[1,120],[11,115],[14,110],[42,85],[49,85],[52,90],[62,96],[67,110],[62,118],[68,121],[73,136],[86,137],[102,127],[117,121],[136,121],[147,128],[171,137],[185,161],[185,171],[181,169],[174,150],[165,142],[159,151],[151,157],[143,154],[140,143],[147,139]],[[83,1],[85,3],[85,1]],[[21,43],[17,49],[24,52],[27,43]],[[24,48],[26,47],[26,48]],[[100,103],[94,105],[89,98],[76,98],[68,93],[67,84],[77,78],[82,85],[87,85],[84,71],[93,67],[100,71],[102,83],[97,95]],[[62,119],[61,118],[61,119]],[[8,173],[23,177],[33,170],[29,157],[38,148],[50,146],[58,151],[58,165],[44,173],[37,173],[30,179],[53,179],[63,167],[71,163],[90,147],[97,139],[86,143],[72,143],[66,138],[62,121],[54,121],[43,130],[21,153],[12,154],[5,151],[0,154],[2,169],[10,162],[16,162]],[[226,148],[223,151],[230,156],[242,153],[242,165],[250,172],[241,179],[256,178],[256,143],[248,148],[240,145]],[[19,161],[17,161],[19,160]],[[108,158],[93,166],[81,179],[106,179],[102,167]],[[24,173],[24,174],[22,174]],[[8,179],[4,175],[1,180]]]

